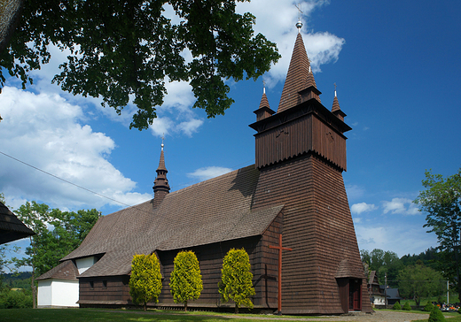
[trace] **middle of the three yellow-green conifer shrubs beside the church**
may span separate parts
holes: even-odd
[[[176,255],[169,287],[175,303],[184,303],[184,311],[187,311],[189,300],[199,298],[203,282],[199,260],[193,251],[180,251]]]

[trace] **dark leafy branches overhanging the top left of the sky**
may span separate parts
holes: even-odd
[[[214,118],[233,103],[225,80],[255,80],[280,57],[274,42],[254,35],[255,17],[236,12],[245,1],[24,0],[0,66],[25,88],[53,44],[70,50],[53,81],[74,95],[102,96],[119,114],[132,99],[130,127],[152,124],[172,80],[188,81],[193,107]],[[0,87],[4,82],[0,68]]]

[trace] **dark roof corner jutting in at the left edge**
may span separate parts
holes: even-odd
[[[0,202],[0,244],[35,234],[27,228],[4,203]]]

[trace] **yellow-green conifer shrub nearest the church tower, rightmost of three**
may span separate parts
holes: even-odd
[[[235,302],[235,312],[238,307],[246,306],[253,309],[250,296],[254,295],[253,274],[250,257],[245,249],[230,249],[223,260],[221,281],[218,283],[222,302]]]

